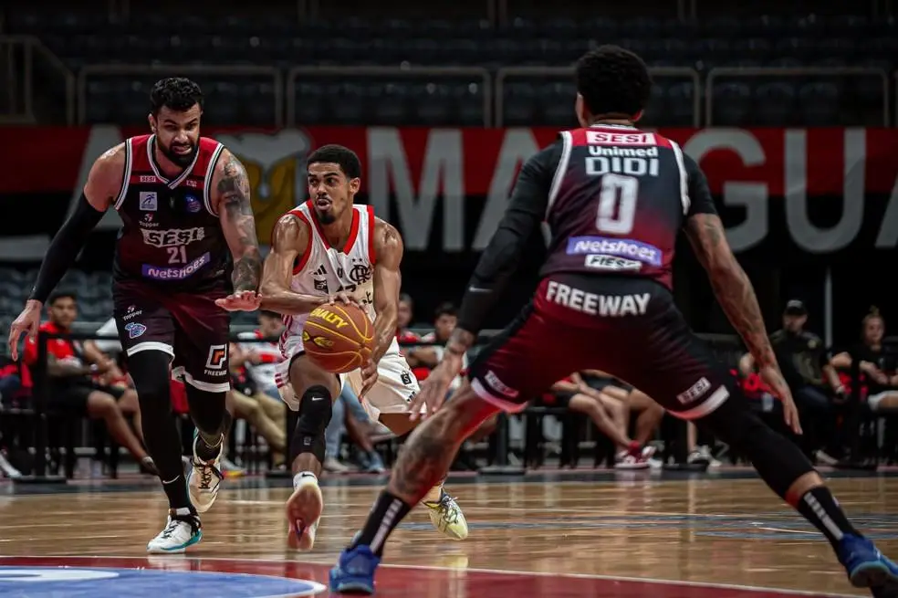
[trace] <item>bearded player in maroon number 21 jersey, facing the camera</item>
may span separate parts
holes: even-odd
[[[221,307],[258,308],[262,260],[243,165],[221,143],[200,137],[199,86],[162,79],[150,100],[151,134],[120,143],[93,164],[75,212],[47,250],[9,344],[15,355],[22,333],[36,334],[47,295],[114,207],[124,223],[113,266],[115,318],[140,397],[146,445],[170,507],[168,523],[147,550],[164,553],[183,552],[202,538],[197,511],[209,509],[217,496],[230,426],[230,315]],[[189,479],[172,415],[172,366],[186,383],[198,430]]]

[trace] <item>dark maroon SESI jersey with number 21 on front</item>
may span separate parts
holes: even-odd
[[[125,174],[115,202],[124,226],[114,276],[177,289],[225,280],[228,247],[211,203],[215,163],[225,148],[201,137],[193,163],[169,179],[156,163],[155,135],[125,142]]]

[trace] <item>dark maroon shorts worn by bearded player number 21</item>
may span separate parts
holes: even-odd
[[[163,351],[172,357],[172,375],[210,393],[231,389],[228,339],[231,315],[215,305],[227,295],[219,288],[171,292],[142,281],[112,285],[115,321],[128,357]]]

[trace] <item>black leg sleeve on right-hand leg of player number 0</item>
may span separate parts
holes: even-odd
[[[786,498],[795,480],[814,471],[799,446],[761,421],[741,395],[731,396],[698,424],[747,456],[758,475],[780,498]]]

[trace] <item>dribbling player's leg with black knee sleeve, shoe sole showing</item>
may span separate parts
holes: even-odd
[[[324,510],[318,476],[324,462],[324,431],[339,396],[339,380],[299,356],[290,365],[290,383],[299,397],[299,419],[290,439],[293,494],[286,506],[287,544],[298,551],[310,551]]]

